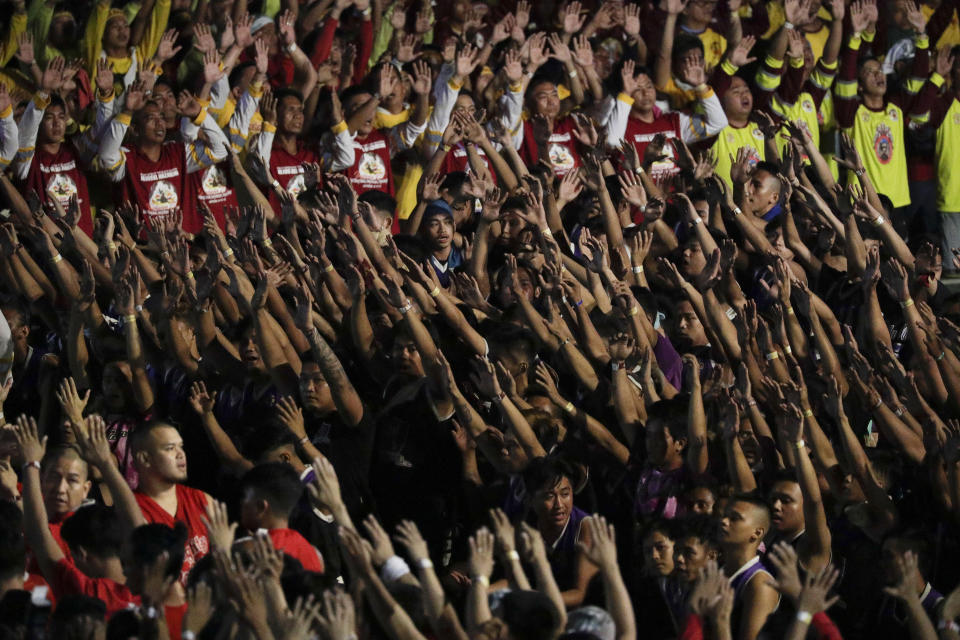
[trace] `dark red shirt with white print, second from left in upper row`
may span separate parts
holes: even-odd
[[[127,150],[126,156],[126,197],[140,206],[146,220],[152,222],[153,218],[163,218],[180,209],[184,231],[197,233],[203,228],[187,180],[187,154],[182,142],[164,142],[156,162],[136,146]]]

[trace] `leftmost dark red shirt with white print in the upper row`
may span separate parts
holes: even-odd
[[[70,205],[71,196],[77,196],[77,203],[80,205],[80,221],[77,226],[88,236],[93,236],[87,177],[77,167],[77,155],[72,144],[62,143],[56,153],[47,153],[38,146],[33,153],[24,186],[25,193],[29,193],[31,189],[36,191],[41,202],[53,202],[53,198],[56,198],[64,209]]]

